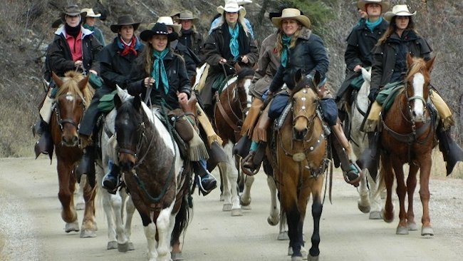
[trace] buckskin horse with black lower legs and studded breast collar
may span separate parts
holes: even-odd
[[[317,110],[318,96],[313,91],[320,75],[317,73],[315,78],[303,77],[301,80],[290,96],[292,116],[288,113],[279,121],[281,126],[275,127],[275,137],[266,151],[274,170],[281,208],[286,213],[290,240],[288,254],[291,254],[292,261],[303,260],[303,221],[310,195],[313,196],[313,234],[308,259],[318,260],[323,172],[328,164],[328,142],[321,113]]]

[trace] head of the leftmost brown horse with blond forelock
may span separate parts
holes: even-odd
[[[83,117],[85,105],[90,103],[93,89],[88,87],[88,78],[69,71],[63,79],[52,72],[56,83],[56,105],[54,111],[61,131],[61,144],[67,147],[78,145],[78,127]]]

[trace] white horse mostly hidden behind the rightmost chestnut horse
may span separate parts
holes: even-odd
[[[351,158],[360,157],[363,150],[368,148],[368,138],[361,126],[370,104],[368,93],[370,93],[371,69],[367,71],[365,68],[362,68],[361,70],[364,82],[360,90],[353,94],[353,105],[350,111],[348,111],[348,118],[350,118],[348,138],[353,153]],[[360,196],[357,203],[358,209],[362,213],[370,213],[370,220],[381,219],[381,197],[379,193],[376,193],[378,189],[378,177],[372,178],[368,172],[368,168],[362,171],[365,175],[360,180],[360,186],[358,187],[358,194]]]

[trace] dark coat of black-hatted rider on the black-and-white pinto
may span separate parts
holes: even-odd
[[[145,47],[147,48],[147,47]],[[191,86],[187,75],[187,68],[181,56],[169,51],[164,57],[164,66],[169,81],[169,91],[167,94],[164,92],[164,87],[160,79],[155,79],[159,82],[158,89],[155,88],[155,84],[152,85],[151,101],[152,103],[159,103],[161,98],[164,98],[167,105],[172,109],[180,108],[177,91],[179,93],[187,93],[187,96],[191,96]],[[143,81],[146,77],[151,77],[151,74],[145,73],[145,57],[139,56],[130,72],[130,83],[128,83],[128,93],[132,96],[142,95],[145,99],[147,88]]]

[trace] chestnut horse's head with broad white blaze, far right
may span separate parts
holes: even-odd
[[[430,73],[435,57],[430,61],[423,58],[412,58],[407,53],[407,76],[405,78],[405,95],[407,96],[410,117],[415,122],[426,120],[426,103],[430,91]]]

